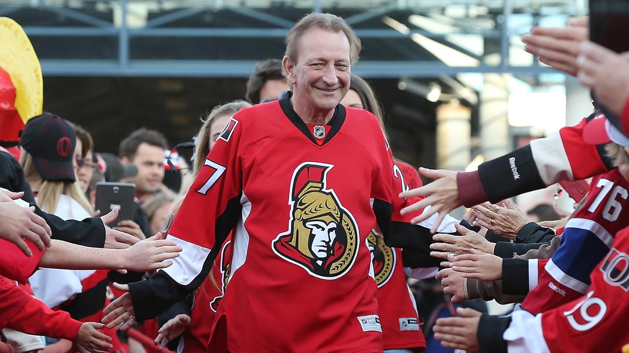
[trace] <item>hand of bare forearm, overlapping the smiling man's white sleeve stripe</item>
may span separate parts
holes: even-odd
[[[172,265],[172,261],[165,260],[176,258],[183,248],[177,246],[174,241],[165,240],[165,237],[165,233],[157,233],[125,249],[123,268],[142,272],[167,268]]]

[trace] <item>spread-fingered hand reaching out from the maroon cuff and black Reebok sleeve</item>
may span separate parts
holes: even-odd
[[[420,188],[408,190],[399,194],[400,198],[421,197],[425,198],[408,207],[404,207],[400,213],[402,215],[411,212],[418,212],[430,206],[430,209],[422,212],[421,215],[411,219],[412,224],[418,224],[422,220],[428,219],[431,215],[437,213],[437,222],[433,225],[430,232],[437,231],[439,225],[448,212],[462,205],[459,201],[459,187],[457,187],[457,172],[452,170],[432,170],[420,168],[420,174],[426,178],[435,179],[434,182],[424,185]]]

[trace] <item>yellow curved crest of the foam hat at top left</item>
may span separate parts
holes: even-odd
[[[0,17],[0,68],[11,77],[15,87],[15,107],[26,124],[42,114],[42,67],[22,26],[8,17]]]

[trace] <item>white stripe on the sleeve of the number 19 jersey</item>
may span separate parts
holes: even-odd
[[[550,353],[542,330],[542,314],[533,316],[526,310],[515,310],[503,339],[508,353]]]

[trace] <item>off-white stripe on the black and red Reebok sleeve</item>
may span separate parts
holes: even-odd
[[[570,160],[565,153],[564,141],[559,131],[547,138],[535,139],[530,145],[533,160],[546,185],[559,180],[574,180]]]

